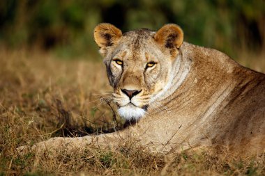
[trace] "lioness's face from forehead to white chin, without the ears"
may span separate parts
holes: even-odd
[[[105,61],[114,87],[114,102],[124,118],[144,115],[151,97],[167,83],[172,65],[171,59],[162,54],[153,38],[134,39],[130,36],[122,38],[114,54]],[[138,48],[135,42],[139,42]]]

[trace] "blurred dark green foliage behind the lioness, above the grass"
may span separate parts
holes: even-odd
[[[93,28],[100,22],[122,31],[179,24],[185,41],[234,58],[242,49],[265,50],[263,0],[1,0],[0,47],[98,57]]]

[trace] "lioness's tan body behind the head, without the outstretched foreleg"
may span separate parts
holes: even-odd
[[[163,152],[213,145],[264,152],[265,75],[215,49],[184,43],[181,52],[190,70],[181,86],[138,123],[142,141],[156,143]]]

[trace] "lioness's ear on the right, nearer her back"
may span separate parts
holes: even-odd
[[[169,51],[172,57],[178,54],[183,43],[184,33],[176,24],[166,24],[156,32],[155,40],[162,47],[162,51]]]

